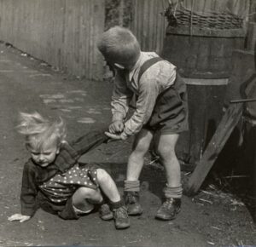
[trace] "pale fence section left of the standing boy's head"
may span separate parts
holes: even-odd
[[[0,40],[51,66],[102,79],[102,0],[0,0]]]

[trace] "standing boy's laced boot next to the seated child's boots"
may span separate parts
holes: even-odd
[[[128,215],[141,215],[143,208],[139,204],[139,192],[125,192],[125,205]]]

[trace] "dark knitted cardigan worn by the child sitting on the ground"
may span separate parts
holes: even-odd
[[[60,153],[56,156],[53,164],[49,164],[45,168],[34,164],[30,158],[23,169],[20,193],[21,214],[32,216],[38,209],[36,197],[40,184],[43,184],[44,181],[49,181],[57,173],[62,174],[66,172],[67,169],[70,169],[78,162],[85,152],[89,152],[105,141],[108,141],[108,136],[104,134],[104,131],[91,131],[81,136],[71,145],[64,142],[61,144]]]

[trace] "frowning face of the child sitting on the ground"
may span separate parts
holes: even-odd
[[[45,143],[40,148],[36,148],[32,143],[27,146],[28,151],[31,153],[32,160],[40,165],[46,167],[53,163],[56,155],[59,153],[59,147],[54,143]]]

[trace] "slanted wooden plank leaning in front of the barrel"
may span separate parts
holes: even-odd
[[[256,74],[253,74],[249,80],[255,80]],[[248,97],[250,97],[250,93]],[[203,153],[201,161],[196,165],[193,174],[189,178],[185,192],[188,195],[194,195],[201,187],[203,181],[205,181],[207,174],[212,169],[212,165],[218,158],[218,154],[224,147],[224,144],[229,139],[233,129],[241,118],[243,111],[243,105],[235,104],[230,105],[224,114],[215,134],[212,136],[212,140],[209,142],[206,151]]]

